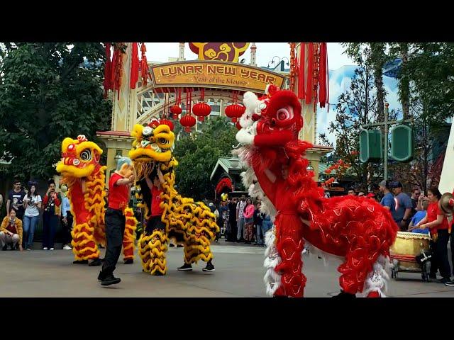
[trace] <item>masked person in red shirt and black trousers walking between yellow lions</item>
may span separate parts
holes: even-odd
[[[98,280],[101,285],[114,285],[121,279],[114,276],[115,265],[121,254],[126,217],[124,209],[128,208],[131,186],[134,183],[134,167],[131,159],[121,157],[115,173],[109,180],[109,206],[106,209],[106,256]]]

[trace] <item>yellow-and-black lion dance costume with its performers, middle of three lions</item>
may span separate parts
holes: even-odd
[[[169,121],[152,120],[145,127],[135,125],[131,133],[135,141],[129,157],[135,164],[136,178],[145,203],[145,217],[149,220],[139,240],[143,271],[165,275],[169,239],[184,245],[184,265],[178,268],[179,271],[192,270],[192,263],[199,260],[206,262],[203,271],[214,271],[210,243],[219,232],[216,217],[204,203],[183,198],[175,190],[175,167],[178,162],[172,157],[175,135],[170,126],[172,123]],[[158,198],[152,198],[152,191],[158,194]],[[159,209],[162,212],[153,211],[153,200],[155,204],[160,200]]]

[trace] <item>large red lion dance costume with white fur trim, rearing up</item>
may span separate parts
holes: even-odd
[[[261,198],[262,211],[275,221],[266,235],[267,294],[303,297],[301,251],[308,242],[343,260],[341,295],[384,296],[389,246],[398,229],[389,211],[368,198],[324,198],[314,173],[306,171],[304,154],[312,145],[298,140],[303,121],[297,96],[273,85],[266,92],[260,100],[244,95],[236,135],[243,147],[236,153],[248,166],[242,176],[250,196]]]

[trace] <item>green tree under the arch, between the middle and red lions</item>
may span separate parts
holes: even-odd
[[[214,197],[216,183],[210,181],[211,172],[219,157],[231,154],[236,145],[238,130],[225,117],[211,118],[201,124],[199,132],[181,132],[175,145],[177,190],[194,200]]]

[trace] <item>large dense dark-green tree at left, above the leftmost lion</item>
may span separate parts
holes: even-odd
[[[99,42],[12,42],[0,46],[0,154],[9,175],[49,178],[65,137],[108,130],[104,47]]]

